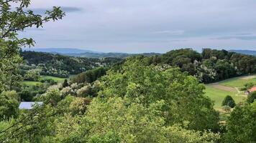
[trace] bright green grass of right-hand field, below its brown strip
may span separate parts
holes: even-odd
[[[214,101],[215,109],[221,108],[221,103],[227,95],[230,95],[234,99],[236,104],[239,102],[242,102],[246,98],[243,95],[237,94],[236,92],[227,92],[221,89],[216,89],[214,87],[211,87],[210,85],[206,85],[205,92],[206,92],[206,96],[210,97],[211,100]]]

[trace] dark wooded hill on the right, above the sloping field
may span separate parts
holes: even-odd
[[[256,73],[256,57],[226,50],[203,49],[202,53],[193,49],[178,49],[156,56],[134,56],[145,64],[168,64],[178,66],[201,82],[216,82],[222,79]],[[119,69],[121,65],[114,66]]]

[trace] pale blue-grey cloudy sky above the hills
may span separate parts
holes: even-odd
[[[40,14],[52,6],[66,16],[20,34],[32,37],[34,48],[256,50],[255,0],[32,0],[29,8]]]

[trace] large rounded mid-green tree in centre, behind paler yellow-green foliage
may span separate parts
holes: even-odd
[[[168,124],[188,121],[189,129],[218,128],[219,115],[211,100],[204,96],[204,85],[178,69],[163,69],[160,66],[144,66],[140,60],[130,58],[122,71],[109,71],[103,78],[102,97],[127,97],[134,102],[151,104],[166,102],[165,119]]]

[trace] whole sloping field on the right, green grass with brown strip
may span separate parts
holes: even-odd
[[[249,82],[256,84],[256,75],[236,77],[215,84],[206,84],[206,96],[214,101],[215,109],[221,109],[221,103],[227,95],[230,95],[237,104],[247,98],[247,95],[243,91],[239,91],[239,88]]]

